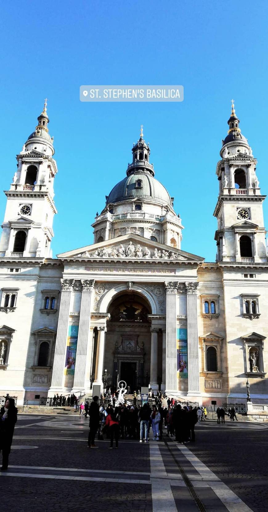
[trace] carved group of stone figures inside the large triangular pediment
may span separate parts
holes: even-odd
[[[142,247],[140,244],[136,246],[130,241],[128,245],[120,244],[117,247],[101,247],[95,251],[85,251],[75,255],[74,258],[135,258],[143,260],[177,260],[186,261],[181,254],[177,254],[172,251],[159,250],[155,247],[153,250],[148,247]]]

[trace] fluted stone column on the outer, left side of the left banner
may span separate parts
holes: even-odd
[[[74,280],[61,279],[61,298],[59,320],[56,337],[56,347],[53,361],[52,381],[50,390],[60,391],[63,386],[64,366],[66,357],[66,339],[69,326],[71,291]],[[52,391],[51,391],[52,392]]]

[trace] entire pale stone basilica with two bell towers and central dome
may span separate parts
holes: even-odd
[[[0,395],[39,403],[127,382],[216,407],[268,400],[268,260],[257,160],[232,104],[216,165],[216,262],[182,249],[182,220],[143,132],[94,242],[51,257],[47,104],[17,155],[0,242]]]

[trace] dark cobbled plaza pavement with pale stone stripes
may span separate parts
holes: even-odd
[[[206,421],[196,443],[87,448],[88,419],[19,415],[2,507],[14,512],[267,510],[268,425]],[[152,436],[151,436],[152,437]]]

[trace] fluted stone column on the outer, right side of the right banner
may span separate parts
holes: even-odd
[[[185,283],[187,290],[188,395],[199,394],[199,350],[197,332],[198,283]]]

